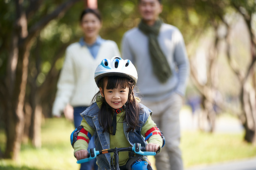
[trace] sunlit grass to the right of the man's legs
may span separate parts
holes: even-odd
[[[244,142],[242,133],[204,133],[185,131],[181,148],[185,167],[256,156],[256,146]]]

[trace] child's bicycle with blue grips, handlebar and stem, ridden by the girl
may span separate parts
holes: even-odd
[[[104,149],[104,150],[96,150],[95,148],[91,148],[90,152],[88,152],[87,157],[88,158],[84,158],[84,159],[80,159],[77,160],[76,163],[84,163],[84,162],[88,162],[94,158],[96,158],[97,155],[99,154],[105,154],[105,153],[110,153],[113,152],[114,153],[114,159],[115,159],[115,163],[114,163],[114,169],[119,170],[119,152],[120,151],[129,151],[129,157],[134,157],[135,153],[140,154],[140,155],[156,155],[156,152],[151,152],[151,151],[146,151],[146,148],[141,146],[140,143],[134,143],[134,146],[130,146],[130,147],[121,147],[121,148],[114,148],[114,149]]]

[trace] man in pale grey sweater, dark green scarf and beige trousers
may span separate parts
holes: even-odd
[[[159,19],[160,0],[139,0],[142,20],[122,39],[122,57],[138,72],[142,103],[153,111],[152,119],[163,132],[165,146],[155,156],[157,170],[182,170],[179,112],[183,104],[189,61],[178,28]]]

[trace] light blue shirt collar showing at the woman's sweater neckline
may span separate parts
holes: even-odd
[[[102,39],[100,36],[98,36],[97,39],[96,39],[96,42],[95,42],[94,44],[92,44],[92,45],[89,45],[89,44],[87,44],[86,42],[84,42],[83,37],[81,37],[80,40],[79,40],[79,44],[80,44],[81,46],[87,46],[87,48],[89,49],[89,51],[90,51],[90,53],[92,54],[92,56],[93,56],[94,58],[96,58],[96,57],[97,57],[97,54],[98,54],[98,52],[99,52],[99,49],[100,49],[100,47],[101,47],[101,44],[102,44],[104,41],[106,41],[106,40],[104,40],[104,39]]]

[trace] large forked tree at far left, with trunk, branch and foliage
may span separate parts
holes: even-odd
[[[76,1],[1,1],[1,109],[7,145],[5,157],[17,159],[25,126],[24,103],[31,48],[40,31],[63,17]],[[36,115],[36,114],[35,114]],[[38,119],[41,117],[39,116]],[[36,119],[36,118],[34,118]]]

